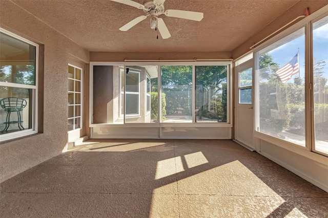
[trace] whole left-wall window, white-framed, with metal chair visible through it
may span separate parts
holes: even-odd
[[[7,140],[37,132],[38,45],[3,29],[0,38],[0,133]]]

